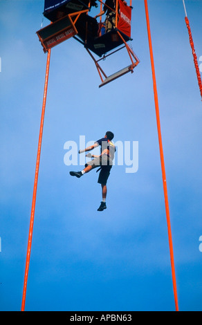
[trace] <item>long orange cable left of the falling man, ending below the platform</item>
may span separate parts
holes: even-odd
[[[31,216],[30,216],[30,229],[28,235],[28,248],[27,248],[27,255],[26,255],[26,270],[24,275],[24,289],[23,289],[23,297],[21,302],[21,311],[24,311],[25,302],[26,302],[26,288],[28,282],[28,270],[30,264],[30,251],[32,245],[32,238],[33,238],[33,224],[35,218],[35,203],[36,203],[36,196],[37,196],[37,183],[38,183],[38,175],[39,175],[39,161],[42,149],[42,134],[43,134],[43,127],[44,127],[44,115],[45,115],[45,108],[46,108],[46,95],[48,89],[48,74],[49,74],[49,66],[50,66],[50,50],[48,50],[47,62],[46,62],[46,78],[44,84],[44,98],[43,98],[43,105],[42,105],[42,118],[39,130],[39,143],[38,143],[38,150],[37,150],[37,163],[35,168],[35,183],[33,189],[33,203],[31,209]]]

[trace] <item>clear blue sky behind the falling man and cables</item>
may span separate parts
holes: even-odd
[[[202,2],[185,3],[199,58]],[[183,1],[148,5],[178,304],[202,310],[201,96]],[[20,310],[46,69],[35,34],[44,1],[0,6],[0,310]],[[144,1],[133,6],[131,45],[140,58],[133,74],[99,89],[80,43],[51,51],[26,310],[175,309]],[[123,56],[104,68],[122,68]],[[71,178],[64,143],[108,130],[115,141],[138,141],[138,171],[113,167],[107,210],[98,213],[98,174]]]

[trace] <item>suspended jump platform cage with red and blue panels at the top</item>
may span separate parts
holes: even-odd
[[[45,0],[44,17],[51,21],[51,24],[37,31],[44,53],[62,41],[74,37],[83,44],[89,55],[91,55],[95,66],[98,69],[102,83],[109,82],[133,72],[140,62],[134,51],[127,44],[131,40],[131,6],[127,6],[122,0],[116,0],[116,25],[108,32],[100,32],[100,24],[89,15],[91,6],[98,6],[96,0]],[[98,0],[101,2],[101,0]],[[126,48],[131,64],[120,71],[107,75],[98,63],[118,50]],[[111,52],[113,51],[113,52]],[[95,59],[92,53],[100,59]]]

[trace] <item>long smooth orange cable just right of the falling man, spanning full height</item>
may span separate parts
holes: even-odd
[[[170,253],[170,261],[171,261],[171,268],[172,268],[172,282],[173,282],[173,290],[174,290],[174,301],[176,306],[176,311],[178,311],[178,297],[177,297],[177,290],[176,290],[176,276],[174,270],[174,252],[173,252],[173,245],[172,245],[172,232],[171,232],[171,225],[170,225],[170,218],[169,218],[169,204],[167,198],[167,184],[166,184],[166,175],[165,175],[165,163],[163,157],[163,145],[162,145],[162,138],[161,138],[161,131],[160,131],[160,115],[159,115],[159,107],[158,107],[158,93],[156,87],[156,75],[154,69],[154,55],[152,50],[152,37],[151,37],[151,30],[149,24],[149,10],[147,5],[147,0],[145,0],[145,12],[146,12],[146,20],[147,20],[147,32],[148,32],[148,39],[149,39],[149,51],[151,57],[151,64],[152,64],[152,77],[153,77],[153,84],[154,84],[154,102],[156,107],[156,122],[157,122],[157,129],[158,129],[158,142],[159,142],[159,149],[160,149],[160,164],[162,169],[162,177],[163,177],[163,190],[165,196],[165,212],[166,212],[166,219],[167,219],[167,231],[168,231],[168,240],[169,240],[169,253]]]

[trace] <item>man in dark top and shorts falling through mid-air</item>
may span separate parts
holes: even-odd
[[[92,169],[100,167],[98,169],[98,171],[100,170],[98,183],[102,186],[102,202],[100,204],[100,207],[98,207],[98,211],[103,211],[104,209],[107,209],[107,180],[109,178],[111,167],[113,165],[114,154],[116,151],[115,145],[113,145],[113,142],[111,142],[112,139],[113,133],[111,131],[107,131],[104,138],[101,138],[100,140],[96,141],[94,145],[87,147],[86,149],[80,150],[79,154],[82,154],[83,152],[91,151],[95,147],[100,146],[100,156],[86,154],[86,157],[93,159],[90,160],[89,163],[86,163],[85,168],[82,171],[69,172],[71,176],[76,176],[77,178],[80,178],[82,175],[88,173]]]

